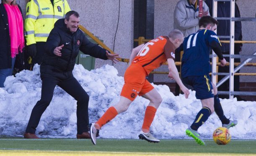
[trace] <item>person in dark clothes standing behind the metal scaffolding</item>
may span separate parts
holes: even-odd
[[[213,1],[212,0],[206,0],[205,3],[209,7],[209,12],[212,16],[212,9],[213,9]],[[217,16],[218,17],[230,17],[230,2],[218,2],[217,6]],[[238,8],[238,5],[235,3],[235,17],[240,17],[240,11]],[[218,36],[230,36],[230,20],[219,20],[219,27],[217,29],[217,35]],[[230,39],[225,39],[221,38],[221,40],[230,40]],[[235,21],[235,40],[236,41],[241,41],[242,40],[242,24],[241,21]],[[239,55],[239,52],[242,49],[243,44],[235,44],[235,49],[234,49],[234,54]],[[222,43],[222,54],[229,55],[230,54],[230,44],[228,43]],[[225,57],[227,62],[230,61],[229,57]],[[234,62],[240,62],[240,58],[235,58]],[[229,73],[229,67],[219,67],[218,70],[219,73]],[[238,72],[239,73],[239,70]],[[223,75],[219,75],[218,79],[221,80],[224,78]],[[240,84],[240,79],[239,76],[234,76],[234,91],[240,91],[239,89],[239,84]],[[223,83],[221,86],[218,88],[219,91],[229,91],[229,81],[226,81]],[[241,99],[240,96],[235,96],[238,101],[245,101],[244,99]],[[219,98],[222,99],[228,99],[228,95],[219,95]]]

